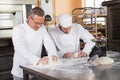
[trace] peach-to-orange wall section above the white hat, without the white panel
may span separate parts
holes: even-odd
[[[55,15],[71,14],[74,8],[81,7],[82,0],[55,0]]]

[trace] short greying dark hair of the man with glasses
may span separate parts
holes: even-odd
[[[38,16],[43,17],[45,15],[45,12],[42,8],[35,7],[33,9],[31,9],[29,12],[29,16],[33,17],[34,15],[38,15]]]

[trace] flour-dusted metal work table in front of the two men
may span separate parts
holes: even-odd
[[[120,80],[120,61],[116,58],[114,60],[117,62],[104,66],[74,62],[74,65],[70,64],[56,69],[41,69],[31,65],[21,65],[21,68],[24,80],[29,80],[29,74],[43,77],[45,80]]]

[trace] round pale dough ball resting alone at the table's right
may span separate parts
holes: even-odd
[[[114,60],[112,58],[109,58],[109,57],[100,57],[97,59],[96,62],[100,65],[109,65],[109,64],[113,64]]]

